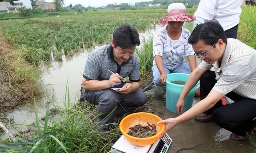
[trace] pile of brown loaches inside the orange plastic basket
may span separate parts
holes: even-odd
[[[150,129],[151,127],[151,129]],[[128,135],[131,135],[133,137],[151,137],[153,135],[156,135],[156,125],[155,124],[149,124],[148,126],[142,126],[140,124],[137,124],[134,127],[129,128]]]

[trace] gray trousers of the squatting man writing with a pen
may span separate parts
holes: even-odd
[[[147,101],[146,94],[140,88],[129,94],[120,94],[110,88],[98,91],[83,89],[82,93],[84,100],[98,105],[98,122],[100,122],[102,130],[107,129],[110,126],[108,124],[113,123],[116,116],[122,116],[126,112],[144,105]],[[110,112],[112,113],[110,114]]]

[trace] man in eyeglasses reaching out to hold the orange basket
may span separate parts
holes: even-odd
[[[215,122],[232,132],[234,141],[248,139],[256,125],[256,50],[237,39],[227,39],[222,26],[212,20],[198,25],[188,38],[202,62],[188,78],[176,108],[180,116],[158,122],[166,131],[195,117]],[[209,71],[214,67],[214,71]],[[200,101],[183,113],[184,98],[200,79]],[[234,103],[222,106],[227,96]],[[203,115],[199,115],[203,113]],[[166,132],[165,131],[165,132]]]

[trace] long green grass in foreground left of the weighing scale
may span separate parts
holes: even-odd
[[[36,123],[30,132],[29,139],[19,138],[17,142],[0,142],[0,151],[11,153],[12,151],[23,151],[30,153],[106,153],[120,137],[120,131],[116,125],[111,131],[99,131],[97,118],[97,107],[88,102],[77,103],[70,106],[69,88],[66,86],[65,108],[58,108],[54,103],[56,112],[60,118],[54,119],[49,110],[45,117],[40,118],[37,114],[36,101],[35,115]]]

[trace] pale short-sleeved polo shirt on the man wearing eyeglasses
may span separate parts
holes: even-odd
[[[218,63],[209,64],[202,61],[198,66],[210,70],[214,66],[217,83],[213,89],[222,94],[230,91],[240,96],[256,100],[256,50],[237,39],[229,38],[222,57]]]

